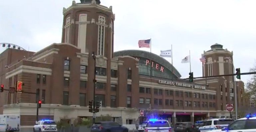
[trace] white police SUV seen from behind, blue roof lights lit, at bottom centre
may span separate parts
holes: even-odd
[[[149,119],[144,132],[171,132],[171,130],[167,120]]]

